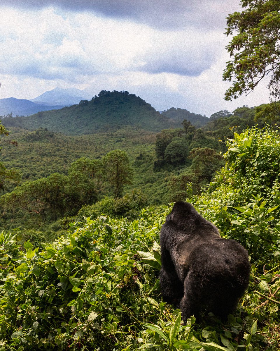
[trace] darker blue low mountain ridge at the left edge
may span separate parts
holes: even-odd
[[[44,104],[36,104],[30,100],[25,99],[0,99],[0,115],[13,113],[13,115],[30,115],[38,111],[47,111],[62,108],[63,106],[47,106]]]

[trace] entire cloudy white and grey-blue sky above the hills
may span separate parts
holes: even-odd
[[[239,0],[1,0],[0,99],[55,87],[127,90],[157,110],[219,110],[268,102],[262,82],[224,100],[226,16]]]

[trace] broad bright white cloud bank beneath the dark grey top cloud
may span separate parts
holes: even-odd
[[[123,71],[195,76],[224,43],[215,31],[161,31],[84,13],[64,20],[50,8],[2,12],[0,26],[1,72],[45,79]]]

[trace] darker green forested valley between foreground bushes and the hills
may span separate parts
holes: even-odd
[[[219,111],[203,129],[183,120],[181,128],[158,134],[124,127],[116,132],[73,137],[47,128],[33,132],[12,128],[11,135],[1,139],[5,147],[0,153],[0,181],[5,196],[0,201],[0,227],[27,230],[25,240],[34,240],[38,231],[54,238],[65,231],[63,217],[82,218],[82,212],[78,214],[82,206],[89,206],[85,213],[91,208],[96,216],[107,213],[136,218],[141,206],[184,200],[190,192],[199,193],[224,165],[221,151],[226,151],[227,138],[256,123],[259,127],[279,124],[279,116],[277,102],[255,108],[243,106],[232,114]],[[105,165],[95,176],[98,182],[92,170],[85,172],[80,167],[83,163],[100,164],[113,150],[125,151],[133,168],[122,193],[114,191],[108,178],[111,172]],[[58,185],[59,191],[50,191]],[[40,196],[33,199],[35,194]],[[41,201],[39,208],[27,206]]]

